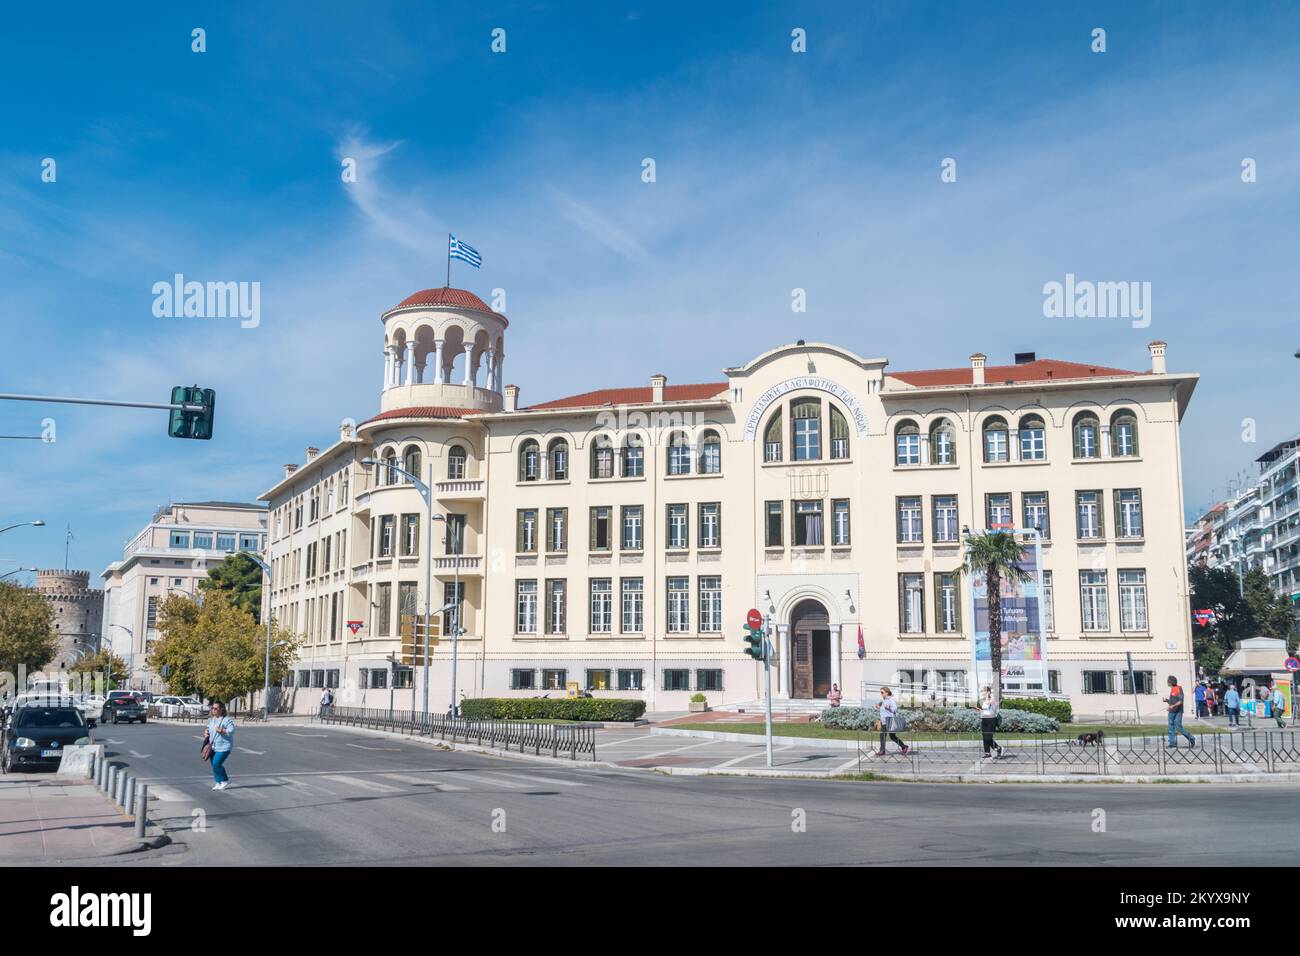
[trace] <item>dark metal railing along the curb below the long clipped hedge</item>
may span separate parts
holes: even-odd
[[[581,723],[469,721],[442,714],[425,715],[419,710],[339,706],[324,708],[312,721],[338,723],[344,727],[387,730],[536,756],[595,760],[595,727]]]

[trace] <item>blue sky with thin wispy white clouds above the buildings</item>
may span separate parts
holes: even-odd
[[[70,523],[98,576],[156,506],[251,501],[372,415],[378,315],[442,284],[448,230],[485,259],[452,284],[507,290],[525,402],[716,380],[796,338],[900,369],[1143,368],[1164,338],[1202,376],[1195,510],[1300,428],[1297,51],[1282,3],[8,10],[0,390],[218,399],[211,442],[162,412],[0,403],[0,433],[58,429],[0,441],[0,527],[49,523],[5,535],[0,572],[61,566]],[[155,317],[177,272],[261,282],[260,326]],[[1150,328],[1045,319],[1067,272],[1152,282]]]

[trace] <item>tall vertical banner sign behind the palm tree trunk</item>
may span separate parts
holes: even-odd
[[[1030,572],[1024,581],[1004,580],[1002,605],[1002,689],[1048,692],[1046,643],[1043,636],[1043,564],[1039,537],[1022,531],[1024,557],[1019,564]],[[984,575],[971,575],[975,609],[975,692],[993,682],[993,657],[988,633],[988,581]]]

